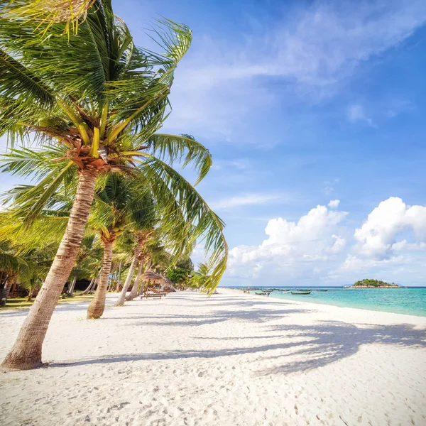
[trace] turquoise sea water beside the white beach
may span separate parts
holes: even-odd
[[[268,288],[268,287],[264,287]],[[272,287],[269,287],[272,288]],[[285,287],[280,287],[285,288]],[[288,287],[287,287],[288,288]],[[325,289],[320,288],[320,289]],[[294,288],[293,288],[294,290]],[[327,292],[312,288],[310,295],[291,295],[273,291],[269,297],[323,303],[341,307],[395,312],[397,314],[426,317],[426,287],[411,288],[335,288],[327,287]],[[252,294],[255,292],[252,291]],[[266,297],[266,296],[258,296]]]

